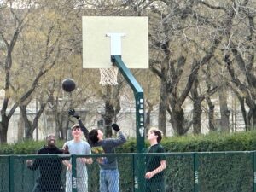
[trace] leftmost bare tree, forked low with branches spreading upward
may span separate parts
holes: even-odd
[[[15,4],[14,8],[11,2],[7,5],[8,6],[3,11],[5,15],[1,17],[5,20],[2,20],[1,23],[3,25],[8,25],[1,27],[0,30],[0,35],[3,38],[6,48],[6,54],[2,55],[3,61],[5,62],[1,63],[1,66],[3,66],[2,73],[5,76],[5,84],[3,86],[5,95],[1,108],[2,121],[0,124],[0,143],[5,143],[7,141],[9,119],[15,112],[15,109],[19,106],[24,110],[26,109],[22,107],[21,103],[26,102],[26,100],[32,96],[40,79],[55,66],[61,51],[58,46],[61,39],[61,33],[55,33],[55,36],[53,36],[55,26],[49,26],[49,30],[46,31],[44,35],[45,46],[38,51],[38,55],[28,55],[29,49],[26,49],[25,47],[27,52],[24,51],[23,53],[26,53],[26,55],[23,55],[24,57],[20,59],[22,49],[21,51],[20,49],[15,49],[15,45],[17,48],[24,45],[21,44],[21,42],[25,39],[24,37],[26,35],[22,32],[26,32],[27,28],[34,24],[33,19],[37,10],[35,9],[34,4],[27,4],[25,9],[23,7],[23,9],[17,8],[17,4]],[[24,6],[24,4],[22,4],[22,6]],[[9,17],[11,19],[8,19]],[[12,32],[13,30],[14,33],[10,34],[9,32]],[[24,49],[24,47],[22,48]],[[13,65],[14,61],[15,65]],[[36,61],[36,65],[35,63],[31,65],[33,61]],[[22,68],[16,66],[16,64],[19,65],[19,63],[20,66],[23,66]],[[26,73],[24,73],[25,71]],[[37,118],[38,117],[36,117],[36,119]],[[35,123],[35,125],[36,124],[37,123]]]

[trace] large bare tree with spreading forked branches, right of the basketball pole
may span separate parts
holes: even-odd
[[[161,94],[168,93],[168,112],[171,115],[172,127],[178,135],[183,135],[189,129],[184,121],[183,102],[187,98],[200,68],[212,59],[218,45],[229,35],[235,11],[232,3],[226,3],[222,7],[202,1],[161,2],[166,4],[165,11],[160,11],[156,6],[151,7],[155,15],[160,18],[159,29],[151,35],[151,39],[154,48],[160,50],[164,60],[161,60],[160,67],[154,65],[152,69],[160,77],[161,87],[166,89],[161,90]],[[212,20],[210,15],[221,16]],[[202,30],[204,27],[207,27],[209,34]],[[197,44],[202,44],[203,39],[195,38],[198,36],[208,36],[204,47],[205,53],[201,51],[193,53]],[[173,37],[179,38],[182,43],[177,44],[177,39],[173,39]],[[179,49],[172,48],[178,48],[178,46],[180,46]],[[197,58],[191,57],[192,54],[196,54]],[[189,67],[189,73],[185,67]],[[188,79],[185,84],[180,82],[183,75],[186,75]],[[166,96],[160,96],[160,98],[166,98]],[[161,105],[166,106],[166,101],[160,101]],[[166,116],[164,112],[160,112],[160,115]]]

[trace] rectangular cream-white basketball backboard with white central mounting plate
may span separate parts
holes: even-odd
[[[83,16],[83,67],[108,68],[121,55],[128,68],[148,68],[148,17]]]

